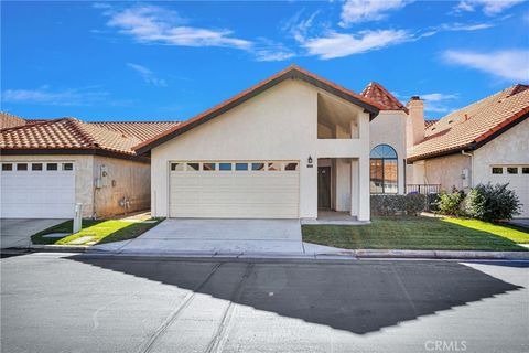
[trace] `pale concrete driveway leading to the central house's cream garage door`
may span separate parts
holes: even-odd
[[[299,220],[165,220],[136,239],[95,246],[120,253],[303,254]]]

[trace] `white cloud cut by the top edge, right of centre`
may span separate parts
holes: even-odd
[[[412,1],[409,0],[347,0],[342,7],[339,25],[349,26],[353,23],[377,21],[387,15],[388,11],[398,10]]]

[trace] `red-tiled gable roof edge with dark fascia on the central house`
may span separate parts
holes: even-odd
[[[369,111],[371,114],[371,117],[376,116],[380,109],[384,109],[382,105],[380,105],[378,101],[375,101],[368,97],[365,97],[363,95],[358,95],[343,86],[336,85],[323,77],[320,77],[313,73],[307,72],[306,69],[303,69],[296,65],[291,65],[288,68],[268,77],[267,79],[258,83],[255,86],[251,86],[250,88],[239,93],[238,95],[229,98],[228,100],[225,100],[215,107],[186,120],[180,124],[179,126],[166,130],[165,132],[160,133],[159,136],[147,140],[138,146],[134,147],[134,150],[138,153],[145,153],[149,150],[151,150],[153,147],[159,146],[176,136],[180,133],[184,133],[185,131],[188,131],[193,129],[194,127],[204,124],[208,121],[209,119],[213,119],[223,113],[238,106],[239,104],[246,101],[247,99],[250,99],[251,97],[258,95],[260,92],[268,89],[276,84],[281,83],[284,79],[288,78],[294,78],[294,79],[301,79],[304,81],[309,84],[312,84],[321,89],[331,92],[335,95],[338,95],[339,97],[344,99],[348,99],[350,101],[355,101],[356,104],[360,105],[364,109]]]

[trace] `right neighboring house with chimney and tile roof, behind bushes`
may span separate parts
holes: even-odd
[[[509,183],[529,217],[529,86],[514,85],[425,127],[422,100],[412,99],[408,182],[468,191]],[[413,111],[411,111],[413,109]]]

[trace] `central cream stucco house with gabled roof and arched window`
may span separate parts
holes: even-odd
[[[168,217],[369,220],[404,193],[408,108],[291,66],[134,147],[151,159],[151,212]]]

